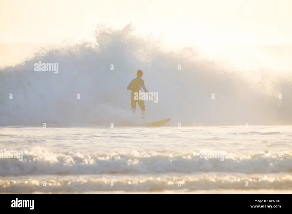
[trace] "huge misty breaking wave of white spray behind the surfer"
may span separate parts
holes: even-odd
[[[190,48],[164,52],[158,41],[135,36],[131,25],[118,31],[100,26],[96,40],[98,45],[42,50],[22,64],[3,68],[0,124],[138,122],[140,108],[131,114],[126,87],[139,69],[146,88],[159,93],[159,102],[145,101],[149,121],[172,117],[170,125],[292,124],[291,73],[234,72],[222,64],[212,68],[196,60]],[[59,72],[34,71],[39,61],[59,63]]]

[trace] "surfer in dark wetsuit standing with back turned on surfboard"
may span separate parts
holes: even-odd
[[[140,107],[140,109],[142,111],[142,118],[144,119],[144,115],[145,115],[144,100],[142,100],[141,98],[139,98],[138,100],[134,99],[135,92],[137,92],[138,94],[141,94],[141,87],[146,93],[149,92],[145,87],[144,80],[142,79],[142,76],[143,76],[143,71],[142,70],[138,70],[137,71],[137,77],[132,79],[132,81],[130,82],[130,84],[127,87],[127,90],[132,91],[132,93],[131,93],[132,112],[133,113],[136,112],[136,102],[138,102],[138,105],[139,105],[139,107]],[[139,93],[139,91],[140,91],[140,93]]]

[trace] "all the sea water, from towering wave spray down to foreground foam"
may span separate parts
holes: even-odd
[[[159,93],[144,122],[165,127],[123,127],[142,121],[126,90],[138,69]],[[0,150],[24,157],[0,159],[0,193],[291,193],[290,79],[100,26],[95,44],[1,68]]]

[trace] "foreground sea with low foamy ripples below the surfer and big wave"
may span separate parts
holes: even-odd
[[[1,193],[291,193],[291,126],[2,127]]]

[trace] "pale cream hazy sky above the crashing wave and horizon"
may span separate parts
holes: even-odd
[[[0,0],[0,43],[90,39],[98,23],[194,45],[292,43],[291,0]]]

